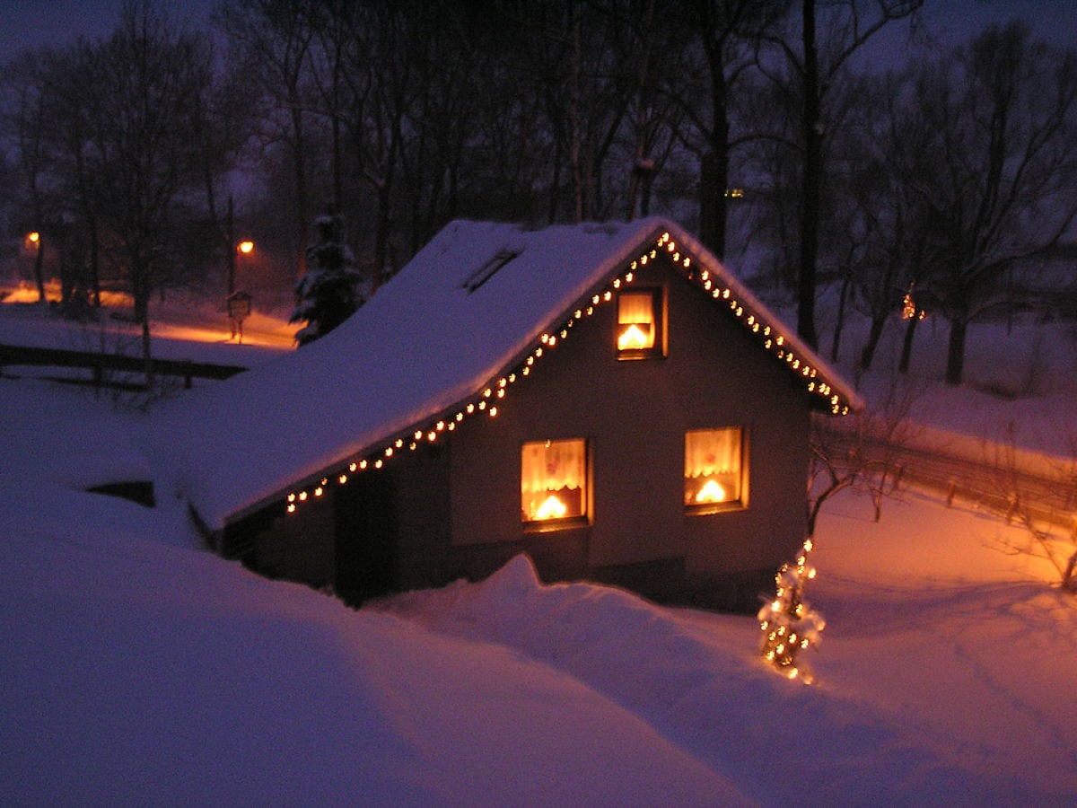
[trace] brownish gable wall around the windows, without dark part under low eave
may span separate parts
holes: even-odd
[[[615,306],[601,306],[510,389],[496,418],[465,421],[452,435],[456,547],[586,543],[579,576],[635,588],[659,579],[666,589],[718,579],[766,583],[799,547],[807,392],[713,301],[651,266],[634,285],[666,290],[665,359],[618,361]],[[687,515],[684,433],[730,426],[747,432],[747,507]],[[519,514],[520,446],[568,437],[589,442],[593,519],[585,528],[529,533]]]

